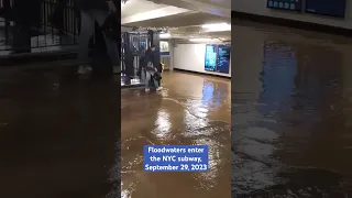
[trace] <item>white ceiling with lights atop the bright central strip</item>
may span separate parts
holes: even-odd
[[[129,0],[121,10],[121,23],[128,26],[165,28],[173,37],[231,38],[231,32],[202,32],[208,23],[231,23],[230,0]],[[199,6],[199,3],[201,6]],[[172,4],[172,6],[169,6]]]

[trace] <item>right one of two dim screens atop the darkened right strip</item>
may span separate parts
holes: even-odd
[[[345,0],[306,0],[306,12],[344,18]]]

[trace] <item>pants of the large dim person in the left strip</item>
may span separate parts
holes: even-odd
[[[81,11],[81,22],[80,22],[80,34],[79,34],[79,54],[78,54],[78,62],[80,65],[90,64],[89,59],[89,41],[90,37],[95,33],[95,22],[97,21],[98,24],[101,26],[106,18],[109,13],[99,11],[99,10],[91,10],[91,11]],[[118,43],[114,40],[111,40],[106,36],[103,33],[103,37],[106,41],[106,46],[108,54],[110,56],[111,63],[113,66],[119,65],[119,48]]]

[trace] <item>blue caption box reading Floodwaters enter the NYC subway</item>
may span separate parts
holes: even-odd
[[[208,145],[144,145],[144,172],[207,172]]]

